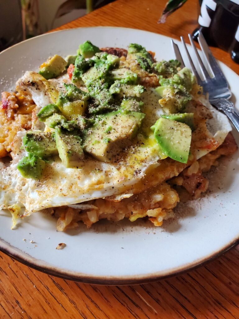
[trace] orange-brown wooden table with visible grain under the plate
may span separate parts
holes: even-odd
[[[118,0],[58,29],[123,26],[179,39],[197,25],[197,1],[168,18],[157,19],[163,0]],[[239,74],[229,55],[216,58]],[[153,284],[93,286],[48,276],[0,253],[0,318],[239,318],[239,250],[234,248],[206,266]]]

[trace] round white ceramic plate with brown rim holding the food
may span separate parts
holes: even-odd
[[[157,59],[174,58],[170,39],[141,30],[93,27],[45,34],[0,54],[0,91],[14,87],[26,70],[37,70],[48,56],[75,54],[86,40],[99,47],[140,43]],[[176,41],[177,42],[177,41]],[[239,107],[238,76],[220,63]],[[234,132],[234,136],[238,134]],[[87,230],[56,232],[56,220],[34,213],[11,230],[0,215],[0,248],[29,266],[63,278],[95,284],[149,282],[195,267],[232,247],[239,238],[238,153],[210,173],[210,190],[200,200],[179,204],[177,218],[152,227],[144,221],[99,222]],[[25,241],[23,241],[25,239]],[[30,241],[34,241],[31,243]],[[58,243],[66,243],[56,250]]]

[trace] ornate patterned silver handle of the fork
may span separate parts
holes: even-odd
[[[213,99],[210,100],[210,103],[214,105],[219,111],[222,111],[224,114],[226,114],[239,132],[239,113],[235,109],[234,104],[225,98]]]

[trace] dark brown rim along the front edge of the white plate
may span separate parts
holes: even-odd
[[[124,285],[139,285],[139,284],[147,284],[151,282],[155,282],[161,279],[165,279],[168,277],[172,277],[175,275],[181,275],[186,271],[191,271],[194,270],[200,266],[205,265],[206,263],[209,263],[210,261],[213,261],[217,259],[219,256],[224,254],[226,251],[229,249],[232,249],[233,247],[237,246],[239,244],[239,237],[231,241],[228,245],[225,245],[222,249],[214,252],[211,255],[208,255],[204,258],[198,259],[192,263],[187,263],[184,266],[169,269],[168,271],[164,272],[156,272],[156,273],[150,273],[148,275],[142,275],[142,276],[128,276],[125,278],[117,278],[113,276],[109,277],[104,277],[104,276],[91,276],[91,275],[86,275],[77,272],[71,272],[71,271],[66,271],[66,270],[61,270],[61,268],[57,267],[50,267],[50,266],[41,266],[38,263],[40,262],[39,260],[30,257],[29,255],[25,254],[26,256],[29,257],[21,257],[20,253],[14,253],[11,252],[11,249],[14,250],[11,246],[9,248],[3,248],[2,243],[6,245],[6,243],[0,239],[0,251],[5,253],[6,255],[14,258],[20,263],[23,263],[24,265],[31,267],[35,270],[41,271],[46,273],[47,275],[52,275],[55,277],[59,277],[62,279],[67,279],[67,280],[72,280],[72,281],[77,281],[81,282],[84,284],[91,284],[91,285],[111,285],[111,286],[124,286]],[[28,260],[29,259],[29,260]],[[30,261],[32,259],[32,261]]]

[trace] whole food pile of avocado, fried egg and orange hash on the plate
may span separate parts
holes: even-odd
[[[2,93],[0,208],[14,223],[48,211],[61,231],[100,219],[161,226],[178,193],[200,197],[203,173],[236,151],[230,131],[177,60],[86,41]]]

